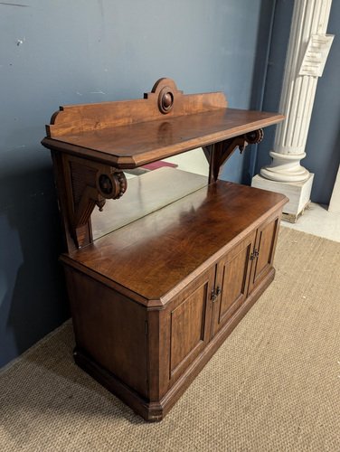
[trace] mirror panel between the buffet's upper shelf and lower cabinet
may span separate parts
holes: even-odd
[[[125,171],[127,192],[91,215],[93,240],[194,193],[208,184],[208,174],[202,147]]]

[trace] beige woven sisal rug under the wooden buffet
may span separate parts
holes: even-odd
[[[0,450],[339,451],[340,243],[281,228],[277,276],[167,417],[72,362],[70,322],[0,374]]]

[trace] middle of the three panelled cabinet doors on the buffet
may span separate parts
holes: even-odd
[[[212,336],[231,318],[248,294],[250,253],[255,231],[241,240],[218,263],[213,300]]]

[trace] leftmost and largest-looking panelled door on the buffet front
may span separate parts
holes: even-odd
[[[195,278],[162,313],[161,392],[174,384],[209,342],[215,266]]]

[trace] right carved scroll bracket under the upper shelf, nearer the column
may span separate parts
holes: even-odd
[[[209,184],[216,182],[222,165],[238,147],[242,153],[246,146],[260,143],[263,139],[263,130],[253,130],[238,137],[232,137],[211,146],[204,146],[203,151],[210,164]]]

